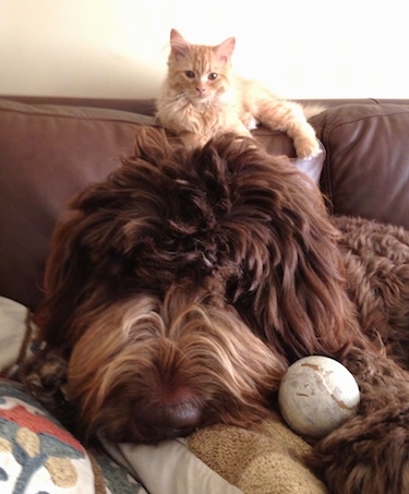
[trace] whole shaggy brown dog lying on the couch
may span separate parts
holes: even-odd
[[[311,466],[332,493],[409,492],[408,232],[332,221],[253,142],[189,152],[149,128],[72,208],[36,314],[47,347],[25,369],[35,395],[50,405],[62,386],[86,434],[155,443],[246,426],[291,362],[330,356],[361,403]]]

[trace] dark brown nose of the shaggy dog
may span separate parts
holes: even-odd
[[[136,426],[154,437],[182,437],[191,434],[200,424],[202,411],[193,401],[171,405],[142,405],[134,407]]]

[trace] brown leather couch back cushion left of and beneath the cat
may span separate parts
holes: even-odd
[[[31,308],[41,300],[50,237],[70,198],[133,154],[140,125],[154,123],[146,115],[69,103],[0,100],[0,296]],[[149,113],[152,101],[135,100],[139,108]],[[268,152],[293,156],[285,134],[255,133]],[[323,158],[294,164],[318,179]]]

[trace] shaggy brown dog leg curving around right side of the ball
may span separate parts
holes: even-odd
[[[311,466],[333,494],[409,492],[409,375],[368,349],[345,362],[361,388],[359,413],[320,441]]]

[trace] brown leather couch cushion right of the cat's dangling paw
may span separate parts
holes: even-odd
[[[409,228],[409,105],[349,104],[314,117],[335,214]]]

